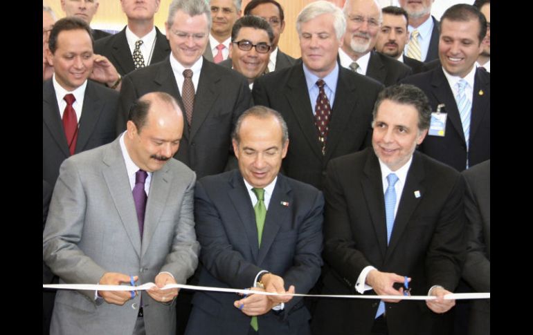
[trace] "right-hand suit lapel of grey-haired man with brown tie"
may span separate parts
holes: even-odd
[[[215,64],[204,59],[201,66],[198,89],[195,94],[195,105],[192,108],[192,123],[190,125],[190,138],[195,137],[202,123],[211,111],[211,106],[217,100],[219,92],[216,86],[220,82],[220,77]]]

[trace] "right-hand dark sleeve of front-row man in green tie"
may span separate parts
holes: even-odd
[[[307,294],[320,276],[323,210],[324,197],[322,192],[318,191],[307,216],[302,218],[302,223],[299,226],[293,266],[283,276],[285,289],[288,289],[290,285],[294,285],[296,293]],[[291,308],[301,298],[293,297],[289,303],[285,304],[285,311],[290,312]]]

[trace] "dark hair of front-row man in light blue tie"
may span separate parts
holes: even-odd
[[[431,106],[424,91],[410,84],[396,84],[381,90],[377,96],[374,110],[372,111],[372,123],[376,119],[377,109],[383,100],[390,100],[398,104],[410,105],[418,112],[418,130],[424,131],[429,128],[431,119]]]

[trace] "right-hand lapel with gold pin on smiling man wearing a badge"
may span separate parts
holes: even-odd
[[[490,111],[490,82],[489,76],[476,70],[476,79],[473,83],[472,116],[470,125],[470,138],[478,131],[482,119]]]

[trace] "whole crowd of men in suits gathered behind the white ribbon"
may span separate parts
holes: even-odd
[[[43,333],[489,334],[444,296],[490,291],[490,1],[399,3],[310,3],[300,59],[275,0],[43,6],[43,282],[155,284],[44,291]]]

